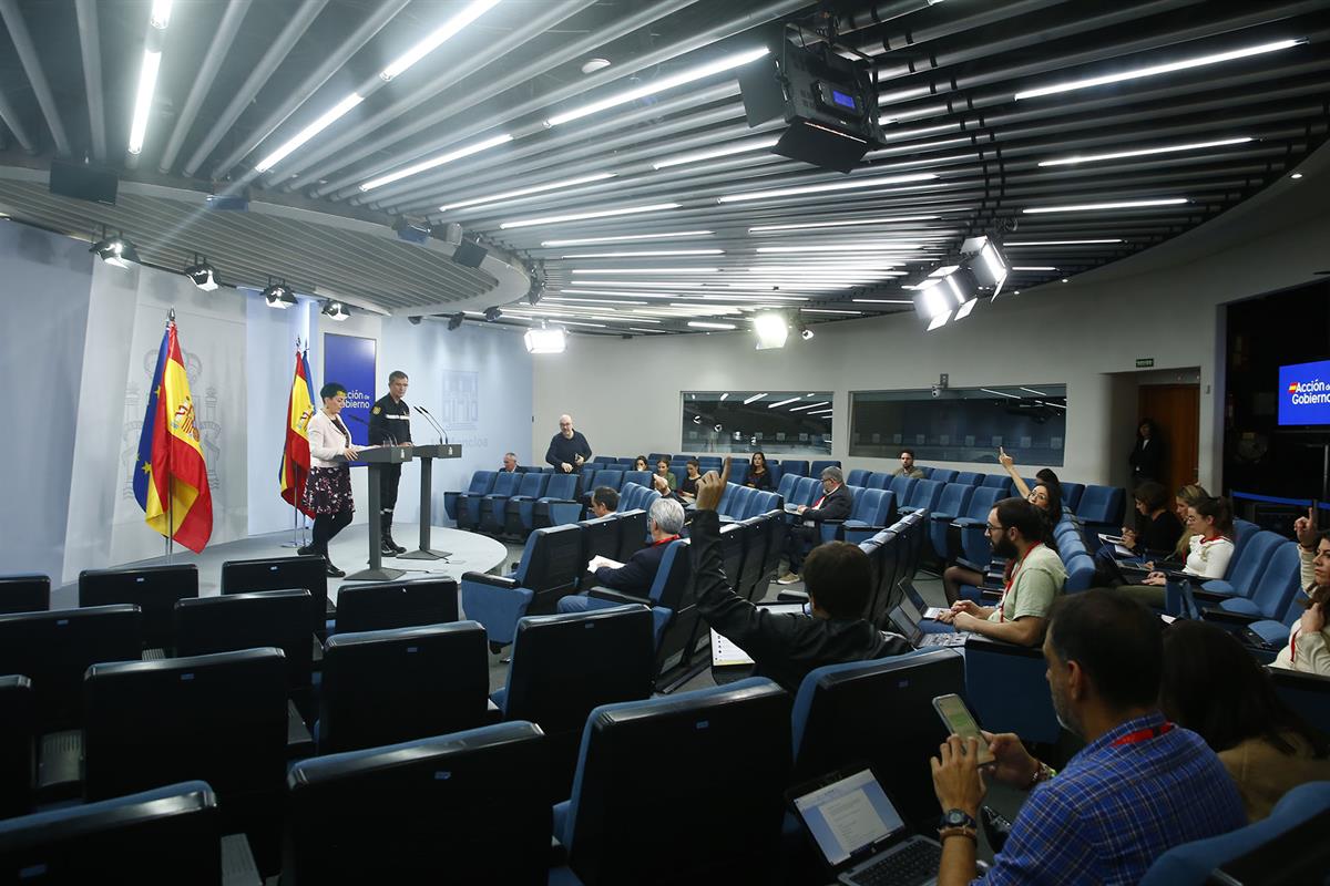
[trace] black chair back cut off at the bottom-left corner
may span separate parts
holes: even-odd
[[[217,794],[203,781],[9,818],[0,821],[0,879],[258,883],[245,838],[222,837],[218,818]],[[223,866],[231,875],[225,881]]]

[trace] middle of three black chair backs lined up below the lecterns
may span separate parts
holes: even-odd
[[[479,622],[338,634],[323,652],[318,749],[338,753],[492,723]]]

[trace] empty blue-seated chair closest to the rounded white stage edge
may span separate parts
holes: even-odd
[[[491,647],[512,643],[517,619],[549,612],[560,596],[577,587],[581,562],[581,526],[551,526],[527,537],[521,561],[509,575],[466,573],[462,608],[485,626]]]

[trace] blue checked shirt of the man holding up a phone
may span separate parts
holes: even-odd
[[[1037,785],[987,879],[975,882],[1134,883],[1173,846],[1246,824],[1214,752],[1150,713],[1100,736]]]

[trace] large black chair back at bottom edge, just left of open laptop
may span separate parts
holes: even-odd
[[[572,797],[555,806],[573,874],[585,886],[775,882],[789,717],[789,695],[761,677],[592,711]]]

